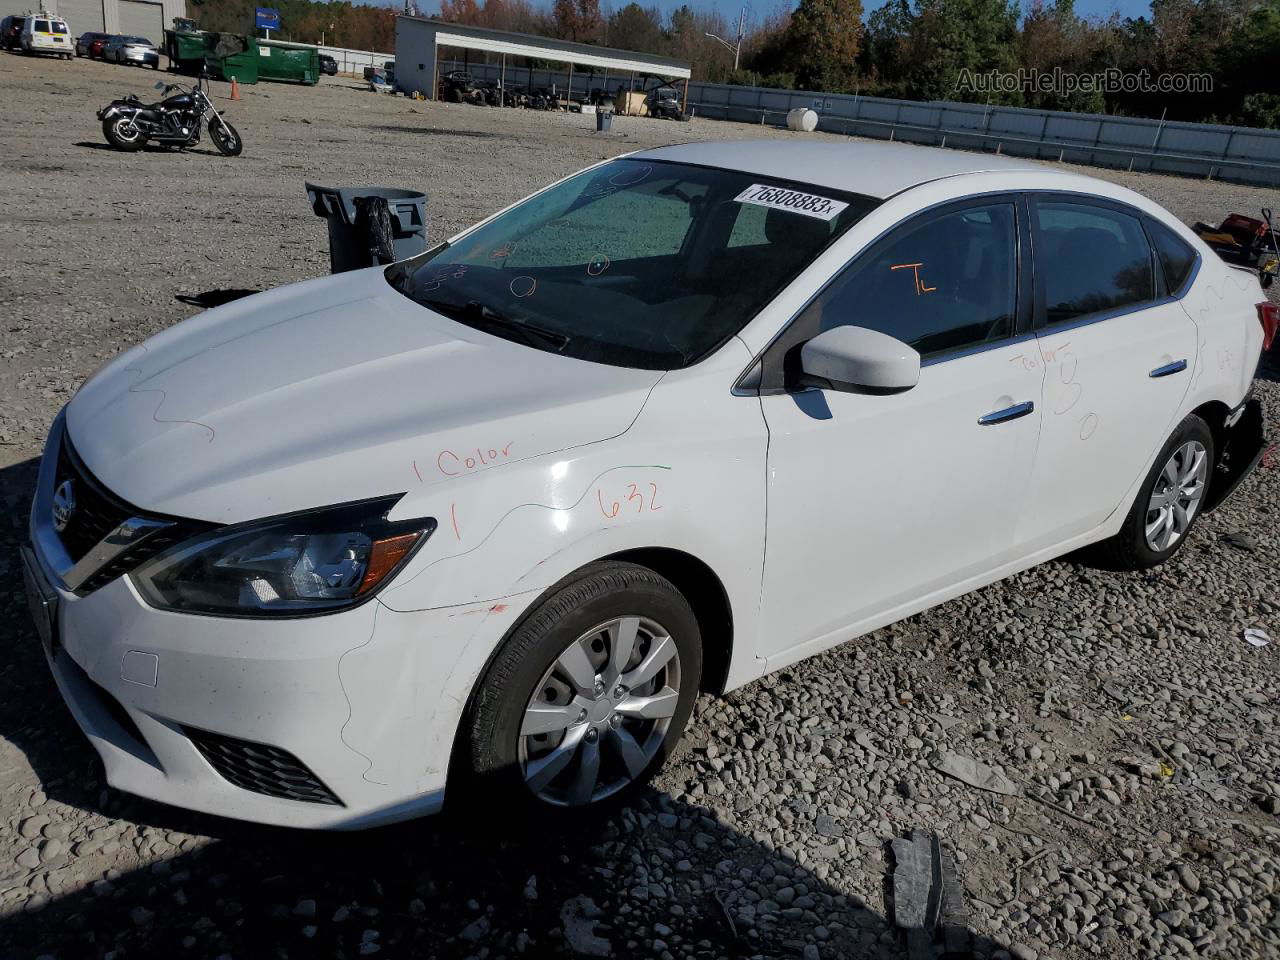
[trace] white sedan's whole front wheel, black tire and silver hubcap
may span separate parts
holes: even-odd
[[[468,718],[467,808],[543,818],[634,796],[680,740],[701,637],[689,602],[631,563],[562,581],[499,649]]]

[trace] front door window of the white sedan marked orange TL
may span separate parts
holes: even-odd
[[[908,224],[815,301],[819,329],[849,324],[879,330],[922,357],[1012,335],[1015,224],[1012,204]]]

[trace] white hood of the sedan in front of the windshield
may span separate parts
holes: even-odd
[[[136,507],[237,522],[617,436],[660,378],[474,330],[371,269],[165,330],[81,388],[67,430]]]

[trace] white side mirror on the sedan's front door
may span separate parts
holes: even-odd
[[[920,381],[920,355],[865,326],[833,326],[800,347],[800,383],[844,393],[901,393]]]

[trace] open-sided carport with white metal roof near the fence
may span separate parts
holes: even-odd
[[[586,67],[593,73],[603,70],[630,77],[649,76],[667,81],[684,81],[685,102],[689,100],[690,64],[668,56],[641,54],[634,50],[576,44],[531,33],[511,33],[486,27],[467,27],[445,23],[428,17],[396,18],[396,82],[404,90],[420,90],[433,100],[436,97],[440,47],[498,54],[506,83],[507,58],[562,63],[567,67],[568,86],[572,90],[575,67]]]

